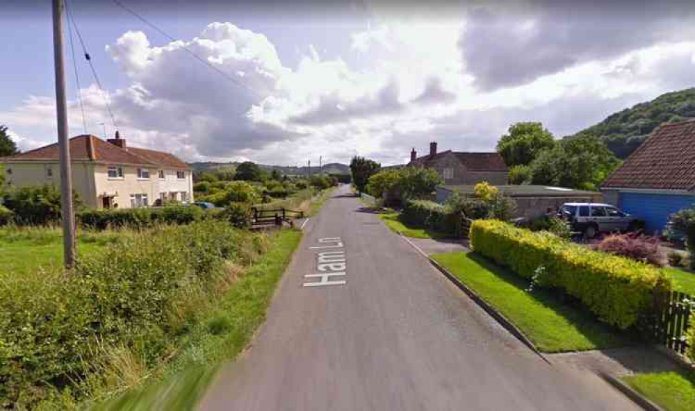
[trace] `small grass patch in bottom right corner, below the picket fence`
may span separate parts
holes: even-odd
[[[668,371],[623,377],[640,394],[668,411],[695,410],[695,372]]]

